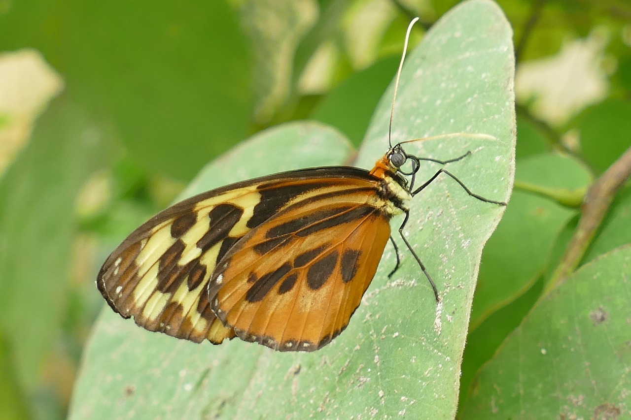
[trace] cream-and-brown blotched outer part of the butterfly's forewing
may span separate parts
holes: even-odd
[[[115,312],[150,331],[195,342],[232,338],[211,311],[204,286],[218,257],[249,231],[260,199],[252,186],[169,207],[110,255],[98,289]]]

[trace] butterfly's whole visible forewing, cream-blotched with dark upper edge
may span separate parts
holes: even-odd
[[[298,197],[308,199],[334,185],[348,189],[367,177],[357,168],[315,168],[191,197],[131,233],[105,260],[98,289],[115,312],[150,331],[215,344],[231,339],[235,332],[218,320],[208,301],[216,262]]]

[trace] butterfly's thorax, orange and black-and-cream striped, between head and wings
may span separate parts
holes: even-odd
[[[370,175],[374,175],[381,181],[378,195],[382,202],[376,204],[377,207],[380,207],[389,217],[408,210],[406,201],[412,196],[407,189],[407,182],[399,175],[397,168],[392,165],[387,155],[375,163],[375,167],[370,170]]]

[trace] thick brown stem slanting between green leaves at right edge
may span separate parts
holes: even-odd
[[[581,262],[589,243],[602,223],[616,192],[631,176],[631,148],[589,187],[582,204],[582,214],[574,235],[565,248],[557,268],[546,284],[543,295],[550,293]]]

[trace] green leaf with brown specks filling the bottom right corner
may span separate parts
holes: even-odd
[[[628,245],[568,277],[534,306],[480,371],[462,418],[628,414],[630,277]]]

